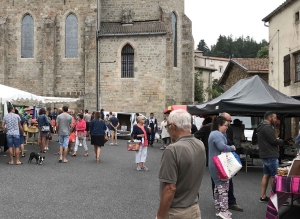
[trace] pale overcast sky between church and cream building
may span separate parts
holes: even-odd
[[[195,47],[204,39],[210,47],[219,35],[250,36],[268,41],[261,20],[285,0],[185,0],[185,14],[192,20]]]

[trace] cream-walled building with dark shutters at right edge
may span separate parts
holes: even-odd
[[[263,18],[269,26],[269,84],[300,95],[300,1],[286,0]]]

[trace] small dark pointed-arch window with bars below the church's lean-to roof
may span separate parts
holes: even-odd
[[[126,44],[122,49],[122,78],[134,77],[134,49]]]

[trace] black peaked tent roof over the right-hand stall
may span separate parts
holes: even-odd
[[[188,105],[192,115],[262,116],[273,111],[282,116],[300,116],[300,101],[271,87],[259,76],[242,79],[221,96],[200,105]]]

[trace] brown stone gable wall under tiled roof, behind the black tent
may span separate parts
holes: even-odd
[[[257,74],[248,74],[246,71],[242,70],[241,68],[237,67],[236,65],[231,65],[229,71],[229,76],[227,77],[224,87],[225,90],[228,90],[231,88],[236,82],[238,82],[241,79],[244,78],[250,78],[254,75],[258,75],[261,77],[263,80],[265,80],[268,83],[268,73],[257,73]]]

